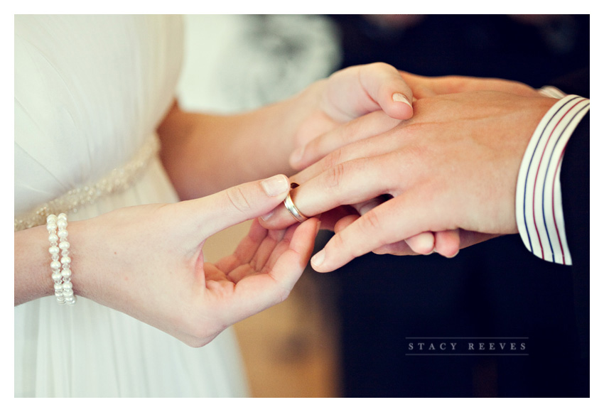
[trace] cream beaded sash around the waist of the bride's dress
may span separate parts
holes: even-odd
[[[15,217],[15,232],[46,223],[48,215],[77,212],[78,207],[90,205],[101,197],[120,193],[130,187],[146,170],[159,151],[159,139],[153,134],[122,168],[115,168],[97,183],[81,186],[19,217]]]

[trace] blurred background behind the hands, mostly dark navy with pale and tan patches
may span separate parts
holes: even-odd
[[[202,15],[185,24],[180,104],[217,113],[254,109],[375,61],[532,87],[590,62],[588,15]],[[205,256],[229,254],[246,232],[242,224],[218,234]],[[329,236],[322,232],[317,247]],[[573,316],[568,268],[507,236],[455,259],[370,254],[335,273],[307,269],[286,302],[235,331],[252,396],[585,396]],[[406,356],[406,338],[417,336],[522,336],[531,352]]]

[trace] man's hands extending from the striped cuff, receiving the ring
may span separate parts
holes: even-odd
[[[412,119],[370,136],[364,119],[357,119],[354,130],[361,132],[352,136],[358,138],[344,144],[338,141],[342,131],[324,134],[296,163],[311,166],[292,177],[301,184],[293,201],[305,215],[323,213],[335,229],[312,260],[317,271],[338,269],[369,251],[411,254],[404,239],[422,232],[436,232],[436,239],[446,233],[445,256],[517,232],[519,165],[532,132],[556,100],[516,82],[402,75],[418,97]],[[323,153],[326,147],[333,151]],[[373,203],[362,213],[342,207],[363,202]],[[280,207],[263,224],[274,228],[290,221]]]

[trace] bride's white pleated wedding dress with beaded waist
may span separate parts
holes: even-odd
[[[16,230],[177,200],[155,129],[182,42],[176,16],[15,16]],[[15,396],[247,395],[232,330],[195,349],[85,298],[17,306],[14,355]]]

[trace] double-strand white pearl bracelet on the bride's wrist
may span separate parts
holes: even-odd
[[[46,218],[46,230],[48,230],[48,242],[50,242],[50,262],[53,282],[55,283],[55,296],[59,305],[68,303],[75,305],[75,295],[71,283],[71,258],[69,257],[69,242],[67,241],[67,215],[48,215]],[[61,254],[59,260],[59,252]]]

